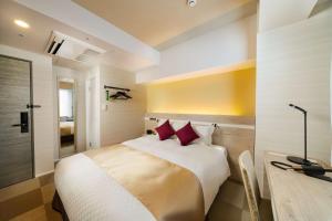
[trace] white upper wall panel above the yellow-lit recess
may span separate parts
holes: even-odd
[[[190,39],[160,52],[160,64],[136,73],[136,82],[178,76],[256,57],[256,15]]]

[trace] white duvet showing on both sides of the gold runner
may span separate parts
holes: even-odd
[[[221,183],[230,176],[227,151],[220,146],[193,144],[181,147],[176,139],[159,141],[156,136],[144,136],[123,144],[194,172],[203,188],[205,213]],[[83,154],[62,159],[54,179],[70,220],[155,220],[139,200]]]

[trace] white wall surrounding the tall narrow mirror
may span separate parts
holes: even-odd
[[[84,151],[85,145],[85,78],[86,73],[61,66],[53,66],[53,96],[54,96],[54,159],[59,159],[59,130],[58,128],[58,86],[59,77],[70,77],[76,82],[76,150]]]

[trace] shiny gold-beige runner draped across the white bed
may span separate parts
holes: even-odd
[[[84,152],[163,221],[203,221],[199,180],[186,168],[116,145]]]

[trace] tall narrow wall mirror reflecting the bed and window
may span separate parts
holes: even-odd
[[[59,96],[59,157],[76,152],[76,95],[75,81],[60,78],[58,81]]]

